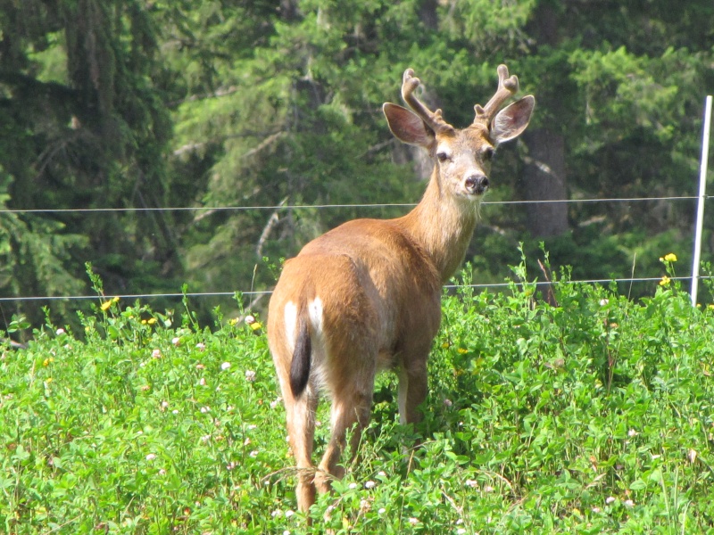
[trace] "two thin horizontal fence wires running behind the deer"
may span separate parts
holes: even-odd
[[[712,196],[705,196],[710,199]],[[558,200],[542,200],[542,201],[487,201],[482,204],[488,205],[520,205],[520,204],[547,204],[547,203],[601,203],[601,202],[693,202],[699,200],[699,196],[664,196],[664,197],[633,197],[633,198],[605,198],[605,199],[558,199]],[[385,209],[385,208],[404,208],[411,209],[416,206],[416,203],[372,203],[372,204],[317,204],[317,205],[275,205],[275,206],[222,206],[222,207],[163,207],[163,208],[87,208],[87,209],[12,209],[0,210],[2,214],[64,214],[64,213],[94,213],[94,212],[162,212],[162,211],[250,211],[250,210],[347,210],[347,209]],[[700,277],[706,278],[706,277]],[[670,277],[671,280],[689,281],[690,276]],[[658,283],[661,277],[627,277],[627,278],[609,278],[609,279],[587,279],[587,280],[569,280],[564,281],[566,284],[633,284],[633,283]],[[509,283],[484,283],[484,284],[469,284],[469,287],[480,289],[500,289],[507,288]],[[454,289],[455,285],[445,285],[444,289]],[[112,294],[112,297],[119,297],[122,300],[151,300],[151,299],[171,299],[171,298],[226,298],[233,297],[239,293],[242,296],[249,298],[259,298],[261,296],[270,295],[271,291],[220,291],[220,292],[157,292],[157,293],[127,293],[127,294]],[[100,295],[35,295],[35,296],[13,296],[0,297],[0,303],[6,301],[62,301],[62,300],[101,300],[104,299]]]

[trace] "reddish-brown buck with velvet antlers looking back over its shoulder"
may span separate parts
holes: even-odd
[[[461,266],[490,187],[499,144],[528,125],[535,98],[505,108],[519,89],[500,65],[498,88],[486,106],[474,106],[467,128],[454,128],[430,111],[403,73],[410,109],[384,103],[392,134],[427,150],[434,170],[421,201],[401,218],[348,221],[307,243],[286,260],[268,309],[268,342],[282,399],[290,449],[297,465],[298,509],[307,513],[316,493],[345,474],[346,436],[356,455],[369,424],[375,376],[398,374],[402,424],[417,424],[427,399],[427,360],[441,323],[445,283]],[[312,464],[315,411],[320,393],[331,399],[330,438]]]

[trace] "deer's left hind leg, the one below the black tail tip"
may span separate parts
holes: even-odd
[[[306,513],[315,503],[315,467],[312,465],[312,447],[315,435],[315,408],[317,392],[310,385],[295,399],[290,388],[283,389],[285,399],[287,436],[297,465],[297,506]]]

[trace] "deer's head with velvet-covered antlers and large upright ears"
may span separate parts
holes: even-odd
[[[444,121],[442,111],[429,111],[419,101],[415,90],[419,78],[414,71],[404,71],[402,97],[412,111],[393,103],[385,103],[389,129],[407,144],[428,150],[436,159],[440,189],[468,202],[480,201],[489,186],[491,160],[499,144],[518,137],[528,126],[535,98],[527,95],[500,110],[519,88],[519,79],[509,77],[505,65],[498,67],[498,90],[486,106],[476,104],[476,116],[467,128],[453,128]],[[499,111],[500,110],[500,111]]]

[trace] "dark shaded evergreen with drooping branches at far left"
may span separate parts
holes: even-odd
[[[112,292],[161,286],[176,263],[165,214],[51,211],[167,202],[170,117],[145,4],[3,0],[0,13],[0,202],[19,210],[0,214],[0,295],[86,292],[87,260]]]

